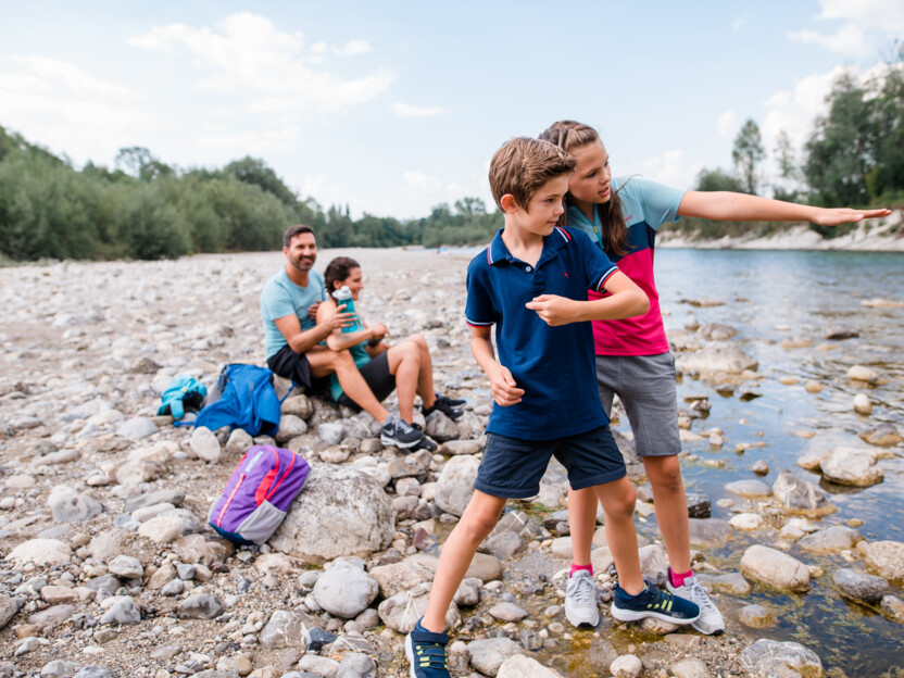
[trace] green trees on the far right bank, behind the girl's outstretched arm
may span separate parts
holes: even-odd
[[[733,166],[703,170],[696,190],[738,191],[765,194],[777,200],[807,202],[826,208],[870,208],[904,204],[904,48],[888,68],[861,84],[850,75],[832,86],[828,112],[815,121],[814,129],[796,158],[788,135],[778,135],[771,156],[778,176],[764,185],[761,167],[768,156],[759,126],[748,120],[734,139]],[[782,228],[761,224],[759,235]],[[824,237],[836,237],[855,224],[811,228]],[[700,238],[750,233],[750,224],[685,218],[668,229]]]

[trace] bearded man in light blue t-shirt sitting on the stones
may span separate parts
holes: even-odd
[[[380,423],[380,438],[399,448],[418,447],[424,434],[397,414],[390,414],[374,397],[348,351],[330,351],[322,342],[336,328],[350,325],[351,313],[337,313],[317,324],[312,319],[324,299],[324,278],[314,271],[317,241],[307,226],[290,226],[282,234],[286,267],[261,290],[267,365],[281,377],[305,389],[311,380],[336,374],[342,390]]]

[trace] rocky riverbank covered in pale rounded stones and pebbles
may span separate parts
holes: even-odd
[[[279,253],[0,269],[0,677],[407,675],[404,633],[425,608],[441,544],[467,504],[490,395],[462,322],[466,256],[324,251],[318,267],[340,253],[362,263],[365,317],[385,322],[393,337],[423,334],[438,389],[467,399],[457,422],[441,413],[420,422],[441,444],[434,454],[384,447],[368,416],[289,393],[280,379],[277,393],[288,397],[274,439],[155,416],[177,374],[211,386],[224,364],[262,364],[258,296],[282,265]],[[701,317],[718,303],[689,302]],[[851,332],[829,328],[825,339],[843,342]],[[764,375],[732,343],[736,334],[696,321],[670,332],[679,374],[701,387],[679,403],[691,447],[731,444],[706,425],[718,406],[708,393],[762,395]],[[870,387],[890,377],[854,365],[838,378],[858,392],[847,406],[867,416]],[[662,585],[655,505],[622,420],[644,576]],[[535,500],[511,505],[450,606],[453,675],[854,678],[826,669],[791,635],[777,638],[780,613],[750,597],[769,591],[793,603],[819,580],[904,629],[904,543],[865,538],[854,516],[836,519],[837,502],[813,481],[814,473],[851,488],[884,481],[904,445],[895,426],[865,420],[861,440],[814,440],[769,482],[768,465],[753,464],[718,500],[729,519],[710,517],[711,499],[689,492],[695,569],[726,613],[719,637],[613,622],[616,580],[602,529],[592,557],[603,620],[593,630],[568,625],[566,484],[553,465]],[[237,550],[206,514],[255,442],[298,452],[312,473],[269,542]],[[739,455],[752,447],[736,444]],[[725,465],[698,453],[683,463]],[[738,557],[711,556],[751,538]]]

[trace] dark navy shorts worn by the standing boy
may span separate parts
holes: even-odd
[[[575,490],[627,475],[608,426],[554,440],[522,440],[488,432],[474,489],[505,499],[535,497],[552,456],[568,469],[568,482]]]

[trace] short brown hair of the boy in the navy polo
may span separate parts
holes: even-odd
[[[493,153],[490,161],[490,190],[502,210],[502,197],[511,193],[515,203],[527,203],[543,184],[563,174],[572,174],[577,161],[549,141],[516,137]]]

